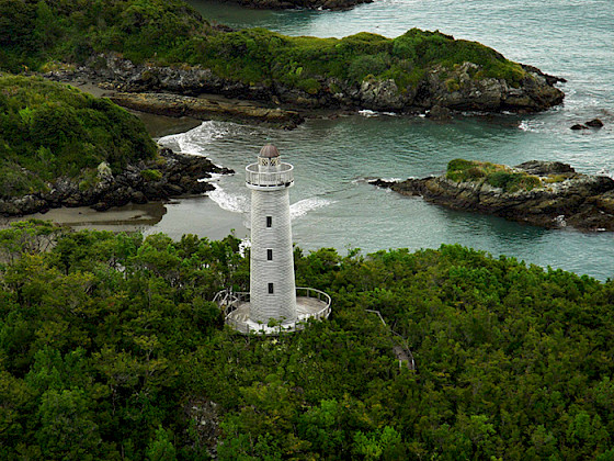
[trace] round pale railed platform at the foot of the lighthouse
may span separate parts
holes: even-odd
[[[322,291],[308,288],[296,289],[296,321],[286,322],[272,319],[262,324],[250,319],[249,293],[219,292],[214,300],[221,308],[225,322],[239,333],[249,335],[278,335],[305,328],[312,318],[321,321],[330,315],[330,296]]]

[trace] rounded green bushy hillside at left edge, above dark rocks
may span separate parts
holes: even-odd
[[[152,158],[141,122],[109,100],[36,77],[0,74],[1,198],[44,191],[59,176],[83,176]],[[93,170],[95,173],[95,170]]]

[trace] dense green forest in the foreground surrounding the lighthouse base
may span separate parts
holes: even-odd
[[[331,317],[259,337],[211,302],[248,288],[232,236],[21,222],[0,260],[4,460],[614,458],[612,281],[461,246],[296,248]]]

